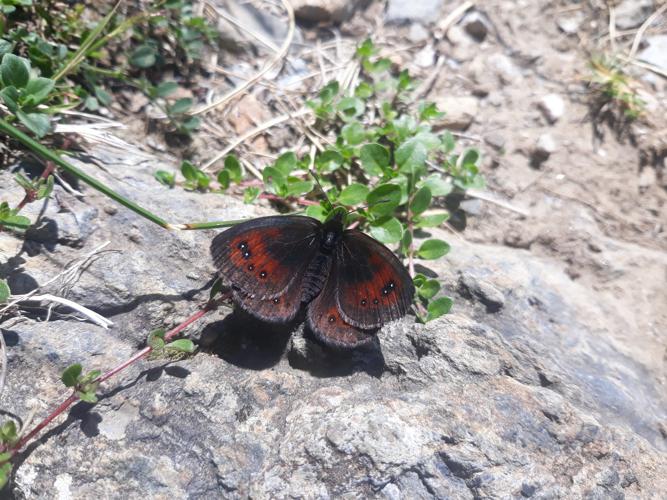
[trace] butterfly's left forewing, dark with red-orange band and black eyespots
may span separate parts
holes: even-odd
[[[260,217],[233,226],[211,243],[218,274],[242,298],[261,301],[291,296],[291,288],[300,288],[309,262],[319,251],[320,227],[317,220],[300,216]],[[245,299],[240,302],[248,310],[255,305]]]

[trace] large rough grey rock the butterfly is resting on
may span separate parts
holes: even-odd
[[[81,168],[170,221],[266,213],[167,190],[152,179],[162,162],[100,158],[120,177]],[[56,241],[21,266],[43,283],[111,240],[68,297],[115,326],[33,314],[5,322],[7,414],[41,418],[62,398],[64,367],[112,367],[206,299],[213,231],[169,233],[104,210],[108,200],[82,189],[98,213],[83,248]],[[15,240],[0,233],[2,272],[18,258]],[[426,325],[403,318],[367,349],[340,352],[295,325],[223,308],[188,330],[208,346],[195,356],[141,361],[106,383],[97,405],[75,405],[20,456],[9,494],[637,498],[667,489],[665,395],[607,333],[632,311],[526,251],[467,243],[417,265],[455,296],[452,314]],[[489,314],[483,301],[502,307]]]

